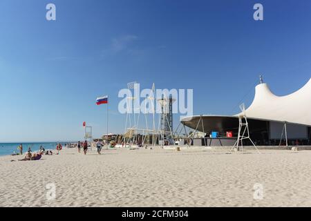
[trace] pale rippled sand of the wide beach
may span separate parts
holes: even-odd
[[[311,206],[311,151],[103,153],[0,157],[0,206]],[[253,198],[255,183],[263,200]]]

